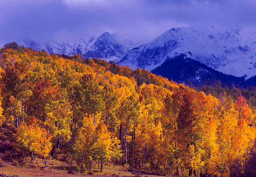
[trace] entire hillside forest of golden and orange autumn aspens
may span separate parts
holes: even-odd
[[[47,166],[61,147],[78,169],[109,162],[169,176],[256,174],[253,90],[203,92],[15,42],[1,48],[0,66],[0,125],[15,127],[13,150],[31,161]]]

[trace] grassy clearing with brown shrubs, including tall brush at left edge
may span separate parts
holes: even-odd
[[[17,153],[13,147],[13,139],[11,135],[14,132],[14,127],[4,124],[0,128],[0,174],[19,175],[21,177],[32,176],[88,176],[89,171],[83,171],[81,174],[76,171],[76,163],[70,158],[68,149],[60,148],[55,150],[54,157],[50,155],[47,157],[47,168],[44,160],[35,156],[31,163],[30,156],[24,159],[20,153]],[[136,177],[156,177],[155,175],[138,174],[136,172],[129,172],[128,167],[116,165],[115,170],[113,164],[104,163],[103,171],[99,168],[92,166],[92,175],[90,176],[135,176]],[[97,164],[98,165],[98,164]],[[72,170],[74,174],[67,174],[67,171]]]

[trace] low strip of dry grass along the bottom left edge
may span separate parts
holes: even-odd
[[[68,165],[65,162],[60,162],[57,160],[49,160],[48,167],[42,168],[44,166],[44,160],[36,158],[32,164],[27,163],[25,167],[14,166],[13,163],[4,162],[4,167],[0,167],[0,173],[8,175],[19,175],[20,177],[58,177],[58,176],[135,176],[135,172],[127,171],[127,168],[122,166],[115,166],[113,169],[112,164],[104,164],[103,171],[101,172],[99,168],[92,168],[92,175],[85,173],[77,173],[76,166]],[[67,171],[72,170],[75,174],[68,174]],[[138,175],[137,175],[138,176]],[[145,175],[140,174],[141,177],[156,177],[156,175]]]

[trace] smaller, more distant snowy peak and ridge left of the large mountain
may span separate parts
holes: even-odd
[[[107,61],[116,60],[127,53],[137,44],[131,40],[118,37],[108,32],[103,33],[97,38],[81,38],[79,41],[58,42],[56,40],[39,44],[34,41],[23,41],[23,45],[32,47],[35,50],[42,48],[51,54],[65,54],[72,56],[81,54],[83,58],[99,58]]]

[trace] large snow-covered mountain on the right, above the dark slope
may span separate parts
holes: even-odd
[[[247,75],[248,79],[256,75],[256,30],[227,31],[208,24],[173,28],[133,48],[117,64],[153,70],[180,54],[226,74]]]

